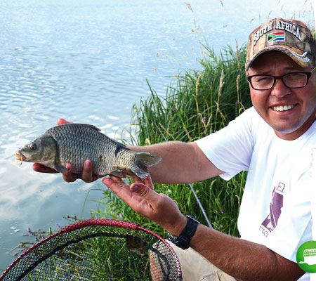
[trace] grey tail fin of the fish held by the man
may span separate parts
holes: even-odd
[[[158,164],[162,157],[150,152],[136,152],[136,159],[131,167],[131,171],[138,176],[138,178],[147,178],[149,173],[147,168]]]

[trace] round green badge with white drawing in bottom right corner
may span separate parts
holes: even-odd
[[[308,273],[316,273],[316,241],[308,241],[296,252],[298,266]]]

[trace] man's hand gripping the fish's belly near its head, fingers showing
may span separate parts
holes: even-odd
[[[72,122],[68,122],[65,119],[58,119],[57,124],[69,124]],[[96,181],[98,178],[101,178],[101,176],[98,176],[96,174],[93,174],[93,166],[91,160],[86,160],[84,162],[84,169],[82,170],[81,174],[74,174],[72,173],[72,164],[67,163],[65,165],[67,171],[62,174],[62,178],[64,181],[67,181],[67,183],[72,183],[73,181],[76,181],[78,178],[81,178],[82,181],[85,181],[86,183],[91,183],[93,181]],[[58,171],[48,168],[44,165],[41,165],[39,163],[33,164],[33,170],[37,171],[39,173],[48,173],[48,174],[56,174]]]

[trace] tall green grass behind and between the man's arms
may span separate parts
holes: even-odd
[[[174,77],[171,86],[166,89],[166,96],[158,96],[148,83],[151,95],[133,106],[131,125],[136,128],[136,133],[131,133],[131,145],[195,141],[223,128],[251,106],[244,74],[244,46],[237,46],[236,51],[231,47],[225,48],[219,55],[204,47],[204,56],[199,60],[200,69],[187,70]],[[193,185],[213,228],[239,235],[237,215],[245,178],[246,173],[243,172],[228,182],[216,177]],[[155,188],[157,192],[173,198],[183,214],[192,214],[206,224],[188,185],[156,184]],[[166,234],[110,191],[105,190],[100,204],[102,207],[96,211],[96,216],[134,221],[160,235]]]

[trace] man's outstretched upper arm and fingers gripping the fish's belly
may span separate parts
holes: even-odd
[[[61,118],[57,122],[58,125],[67,123],[70,122]],[[148,169],[156,183],[194,183],[223,174],[223,171],[217,169],[209,161],[196,143],[172,141],[157,145],[134,146],[130,149],[132,151],[156,153],[162,157],[159,164]],[[62,174],[62,177],[67,182],[73,182],[81,178],[86,183],[91,183],[100,178],[100,176],[93,174],[93,166],[89,159],[84,163],[81,174],[73,174],[70,163],[66,164],[66,168],[67,171]],[[57,171],[41,164],[34,164],[33,169],[41,173],[57,173]]]

